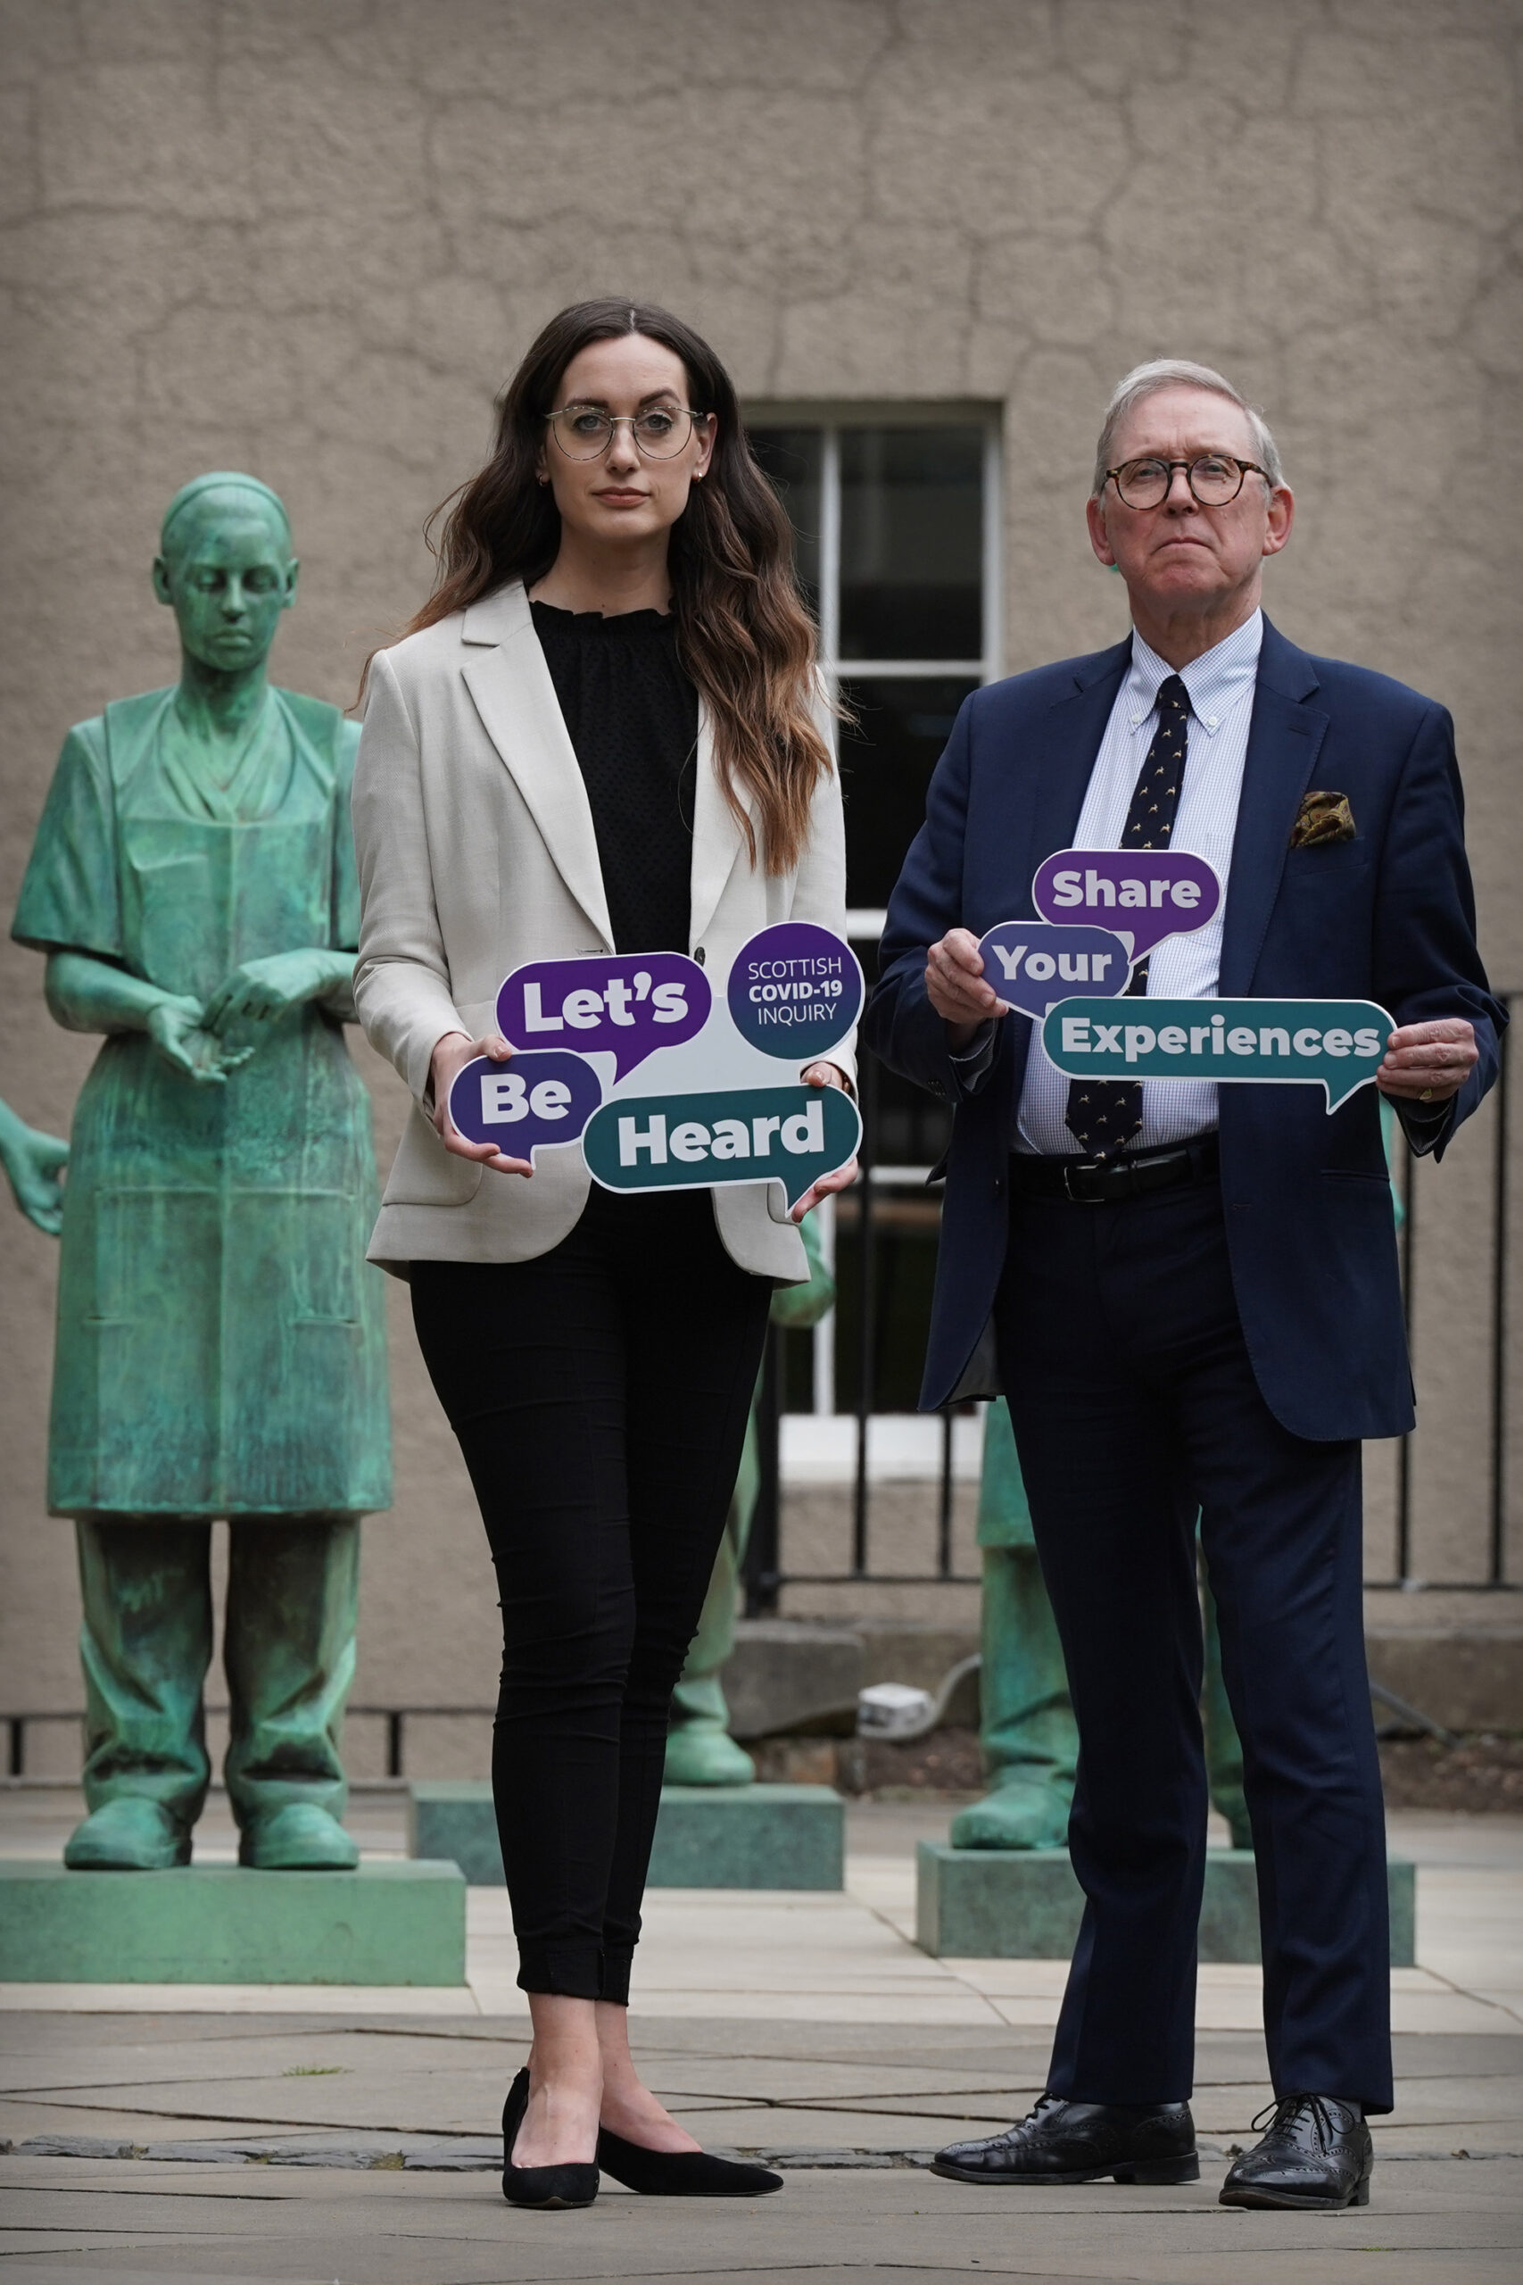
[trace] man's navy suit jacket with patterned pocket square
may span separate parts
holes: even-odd
[[[1007,1154],[1032,1026],[1000,1021],[968,1090],[925,992],[950,928],[1032,919],[1032,875],[1071,848],[1130,638],[975,690],[936,763],[925,825],[888,905],[870,1047],[954,1104],[920,1403],[993,1394],[982,1360],[1005,1266]],[[1308,791],[1347,795],[1356,839],[1290,848]],[[1375,999],[1397,1024],[1468,1017],[1480,1063],[1441,1152],[1496,1079],[1507,1021],[1475,948],[1454,733],[1443,706],[1311,658],[1265,619],[1226,891],[1224,996]],[[1327,1113],[1320,1088],[1222,1088],[1233,1286],[1265,1403],[1315,1440],[1402,1435],[1411,1369],[1375,1088]]]

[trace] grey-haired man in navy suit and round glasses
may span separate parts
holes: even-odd
[[[1089,537],[1135,633],[977,690],[888,907],[868,1040],[957,1106],[925,1405],[989,1392],[991,1328],[1080,1727],[1085,1887],[1048,2091],[973,2182],[1194,2180],[1206,1849],[1194,1508],[1258,1855],[1276,2111],[1228,2205],[1368,2203],[1391,2109],[1359,1440],[1411,1426],[1379,1104],[1320,1088],[1069,1081],[977,939],[1062,848],[1190,850],[1217,919],[1158,996],[1370,996],[1379,1092],[1441,1152],[1496,1076],[1450,717],[1308,658],[1260,612],[1292,498],[1201,366],[1117,388]],[[1139,980],[1133,980],[1137,989]]]

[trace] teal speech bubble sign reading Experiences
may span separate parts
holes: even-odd
[[[1041,1026],[1071,1079],[1215,1079],[1327,1088],[1327,1108],[1368,1088],[1393,1019],[1375,1001],[1059,1001]]]

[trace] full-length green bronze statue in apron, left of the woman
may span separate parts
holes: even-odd
[[[180,681],[69,731],[14,923],[53,1017],[105,1033],[73,1117],[48,1442],[84,1597],[89,1817],[64,1862],[190,1860],[226,1517],[240,1862],[349,1867],[358,1520],[390,1504],[370,1101],[343,1040],[358,731],[265,679],[297,562],[256,478],[174,496],[153,587]]]

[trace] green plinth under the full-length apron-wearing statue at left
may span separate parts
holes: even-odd
[[[464,1983],[454,1865],[66,1871],[0,1860],[0,1983]]]

